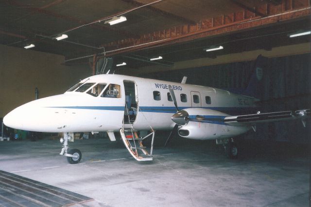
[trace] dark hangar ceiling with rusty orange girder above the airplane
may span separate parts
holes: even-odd
[[[112,57],[125,67],[271,50],[309,43],[309,0],[1,0],[0,44],[65,56],[66,64]],[[127,21],[105,23],[114,16]],[[67,34],[69,38],[56,41]],[[222,45],[224,49],[204,49]],[[162,56],[162,60],[150,61]],[[92,65],[91,65],[92,66]]]

